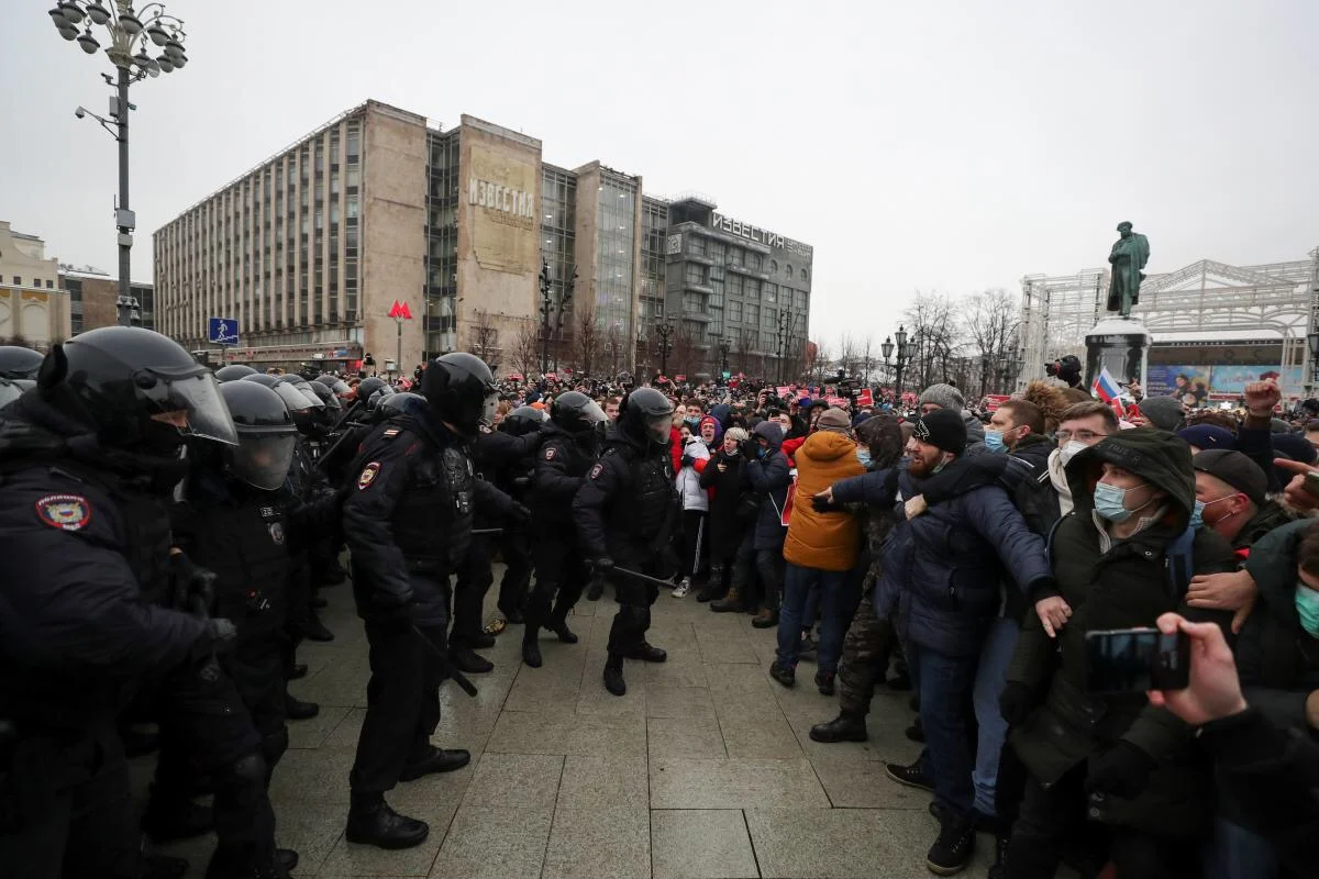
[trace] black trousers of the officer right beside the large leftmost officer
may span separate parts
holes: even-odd
[[[282,688],[278,647],[272,644],[264,656],[264,676]],[[157,710],[160,756],[148,808],[170,809],[191,797],[198,775],[210,775],[219,847],[272,853],[274,810],[266,796],[265,751],[270,749],[277,760],[288,747],[288,735],[276,730],[284,723],[282,689],[278,721],[262,718],[270,738],[257,731],[239,685],[214,659],[170,671],[161,681]]]

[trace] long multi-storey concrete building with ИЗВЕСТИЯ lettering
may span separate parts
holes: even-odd
[[[500,374],[534,372],[543,271],[555,362],[637,369],[667,315],[690,319],[708,365],[712,340],[741,323],[719,314],[712,329],[712,289],[682,286],[691,254],[661,249],[675,233],[768,258],[786,241],[744,240],[731,229],[752,227],[723,229],[711,213],[646,196],[641,177],[599,162],[550,165],[539,140],[474,116],[443,129],[367,101],[154,233],[154,318],[190,349],[207,348],[207,318],[236,318],[233,362],[412,373],[471,351]],[[671,219],[690,228],[671,232]],[[389,316],[394,302],[410,320]]]

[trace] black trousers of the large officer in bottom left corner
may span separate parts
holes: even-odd
[[[0,766],[0,876],[128,879],[137,875],[138,838],[109,718],[20,738],[11,764]]]

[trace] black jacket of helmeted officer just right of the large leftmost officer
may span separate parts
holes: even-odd
[[[285,496],[198,473],[187,501],[170,507],[174,542],[216,575],[212,617],[231,621],[240,639],[269,639],[289,613],[289,518]]]

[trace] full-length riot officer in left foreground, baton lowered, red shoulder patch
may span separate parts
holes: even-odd
[[[471,759],[430,745],[448,652],[448,576],[467,553],[474,506],[495,514],[517,506],[476,480],[468,457],[493,410],[489,368],[468,353],[445,354],[426,368],[421,387],[425,401],[406,401],[404,414],[361,444],[343,502],[353,598],[371,644],[346,837],[384,849],[419,845],[430,832],[389,808],[385,792]]]

